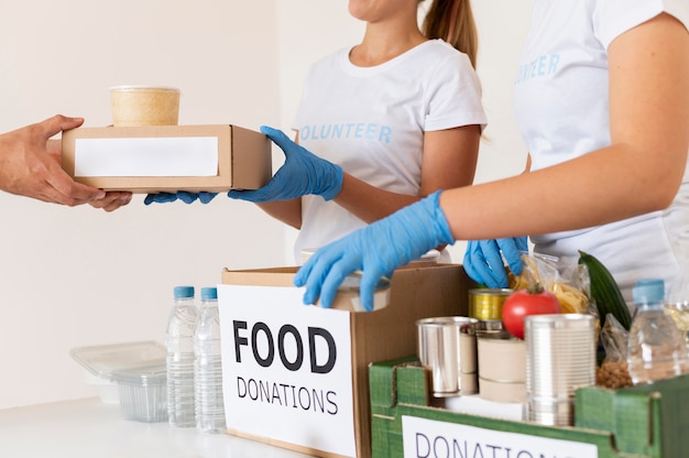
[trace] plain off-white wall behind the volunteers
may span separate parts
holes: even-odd
[[[523,167],[511,91],[531,2],[473,3],[484,182]],[[107,126],[107,89],[120,84],[179,87],[181,123],[287,130],[308,66],[362,32],[343,0],[2,0],[0,132],[55,113]],[[0,193],[0,408],[92,395],[69,349],[162,341],[174,285],[292,264],[296,232],[250,204],[142,200],[106,214]]]

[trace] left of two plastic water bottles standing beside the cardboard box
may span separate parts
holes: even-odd
[[[167,419],[171,426],[194,427],[194,330],[198,309],[194,286],[175,286],[167,320]]]

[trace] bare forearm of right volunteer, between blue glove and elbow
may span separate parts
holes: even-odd
[[[537,172],[447,190],[440,206],[457,240],[581,229],[666,208],[681,182],[686,150],[661,167],[638,155],[611,146]]]

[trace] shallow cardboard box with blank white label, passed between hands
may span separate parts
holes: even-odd
[[[106,190],[221,193],[272,175],[267,137],[230,124],[77,128],[62,143],[63,168]]]

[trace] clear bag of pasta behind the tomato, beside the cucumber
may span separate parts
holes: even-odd
[[[522,254],[524,268],[522,274],[510,274],[512,290],[525,290],[539,284],[555,294],[565,314],[588,314],[595,310],[590,305],[589,272],[578,262],[562,265],[558,258],[547,254]]]

